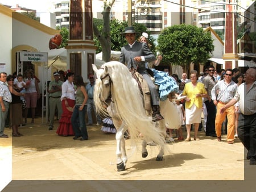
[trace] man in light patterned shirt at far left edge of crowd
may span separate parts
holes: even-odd
[[[5,119],[11,103],[11,93],[6,85],[7,74],[5,72],[0,73],[0,137],[8,138],[8,135],[4,134]]]

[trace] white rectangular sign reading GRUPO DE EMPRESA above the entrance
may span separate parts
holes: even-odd
[[[20,61],[48,62],[47,52],[20,51]]]

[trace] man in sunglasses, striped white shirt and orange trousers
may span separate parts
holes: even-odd
[[[228,144],[234,143],[234,123],[235,114],[234,106],[226,108],[224,113],[220,113],[222,107],[224,107],[229,101],[231,101],[237,92],[237,84],[232,81],[233,72],[232,69],[226,69],[224,80],[218,81],[212,89],[212,99],[214,105],[217,106],[217,113],[215,118],[215,130],[217,140],[221,141],[221,127],[222,123],[228,118]],[[217,96],[216,96],[217,95]]]

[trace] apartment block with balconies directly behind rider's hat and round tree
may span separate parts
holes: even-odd
[[[174,24],[194,24],[191,0],[131,0],[133,22],[144,24],[152,34]]]

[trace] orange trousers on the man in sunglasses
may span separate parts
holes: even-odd
[[[228,135],[227,135],[227,141],[233,141],[234,140],[234,123],[235,123],[235,114],[234,114],[234,106],[230,106],[225,110],[223,114],[220,114],[220,109],[224,107],[225,105],[222,103],[217,104],[217,112],[216,112],[216,118],[215,118],[215,131],[217,137],[221,136],[221,127],[222,123],[226,119],[226,116],[228,118]]]

